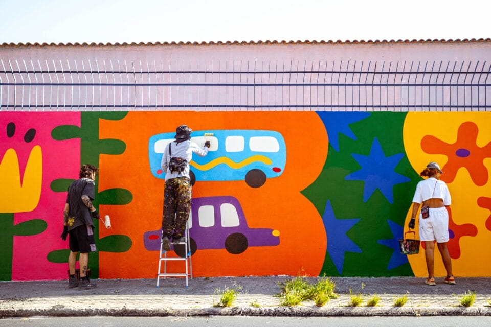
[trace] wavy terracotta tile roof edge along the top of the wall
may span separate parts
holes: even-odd
[[[328,41],[210,41],[210,42],[131,42],[131,43],[2,43],[0,48],[28,48],[28,47],[46,47],[46,46],[158,46],[158,45],[262,45],[262,44],[393,44],[393,43],[482,43],[491,42],[491,38],[480,39],[413,39],[413,40],[328,40]]]

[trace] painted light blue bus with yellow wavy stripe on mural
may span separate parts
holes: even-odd
[[[205,134],[213,133],[213,136]],[[165,178],[160,161],[165,147],[174,141],[174,132],[153,135],[148,141],[148,156],[153,176]],[[194,131],[191,141],[203,147],[211,142],[208,155],[193,156],[190,162],[191,183],[198,181],[245,180],[252,188],[262,186],[267,178],[278,177],[286,163],[283,136],[267,130]]]

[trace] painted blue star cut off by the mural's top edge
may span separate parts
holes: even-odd
[[[349,124],[367,118],[368,112],[317,112],[326,127],[329,144],[334,150],[339,151],[339,134],[344,134],[351,139],[356,139]]]

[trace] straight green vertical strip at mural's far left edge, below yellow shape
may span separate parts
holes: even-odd
[[[0,281],[12,280],[12,258],[14,248],[14,214],[0,213]]]

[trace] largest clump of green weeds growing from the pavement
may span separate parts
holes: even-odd
[[[283,283],[278,283],[281,288],[282,306],[296,306],[303,300],[313,300],[316,306],[322,307],[331,298],[337,298],[338,295],[334,292],[336,284],[325,275],[317,280],[315,284],[310,284],[306,276],[297,276],[291,279],[286,279]]]

